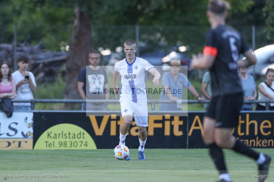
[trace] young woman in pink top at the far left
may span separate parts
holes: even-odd
[[[0,65],[0,99],[14,99],[16,96],[15,79],[12,78],[10,65],[2,62]]]

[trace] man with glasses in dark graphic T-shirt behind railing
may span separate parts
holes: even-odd
[[[99,66],[101,59],[98,51],[89,53],[90,66],[82,68],[78,76],[78,91],[82,99],[108,99],[107,72]],[[82,110],[107,110],[106,103],[83,103]]]

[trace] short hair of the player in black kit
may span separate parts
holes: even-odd
[[[230,4],[225,0],[209,0],[207,5],[207,11],[216,15],[223,15],[229,9]]]

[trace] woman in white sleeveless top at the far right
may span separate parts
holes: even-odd
[[[269,68],[265,73],[265,82],[258,86],[258,100],[274,100],[274,70]],[[265,110],[265,103],[258,103],[256,110]],[[269,110],[274,110],[274,103],[270,103]]]

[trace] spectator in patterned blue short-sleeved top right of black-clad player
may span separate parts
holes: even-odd
[[[255,100],[257,97],[257,90],[256,84],[253,76],[248,75],[247,72],[248,68],[239,68],[239,78],[242,83],[242,88],[244,92],[244,100]],[[252,111],[253,104],[243,104],[241,111]]]

